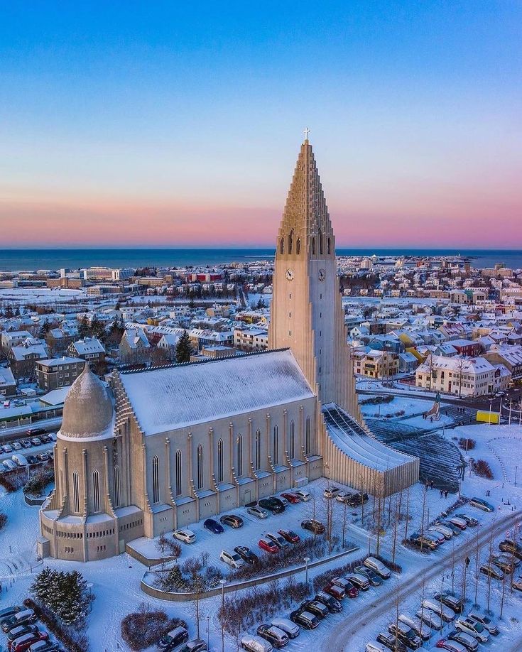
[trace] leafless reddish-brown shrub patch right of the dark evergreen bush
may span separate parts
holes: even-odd
[[[175,627],[187,628],[187,623],[178,618],[170,619],[165,612],[151,611],[140,604],[139,611],[127,614],[121,621],[121,638],[131,650],[144,650],[158,643],[162,636]]]

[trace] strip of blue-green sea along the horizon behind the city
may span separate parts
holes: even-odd
[[[89,266],[215,266],[271,259],[275,249],[0,249],[0,271],[77,269]],[[522,268],[521,249],[337,249],[337,256],[460,256],[474,267]]]

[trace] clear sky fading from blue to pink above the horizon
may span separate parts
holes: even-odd
[[[522,0],[2,3],[0,248],[522,246]]]

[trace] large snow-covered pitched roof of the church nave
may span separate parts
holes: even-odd
[[[313,398],[290,350],[120,374],[146,435]]]

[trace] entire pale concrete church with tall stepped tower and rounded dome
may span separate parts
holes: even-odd
[[[72,385],[38,553],[88,561],[318,477],[376,496],[419,461],[361,418],[335,236],[308,138],[276,242],[269,349]]]

